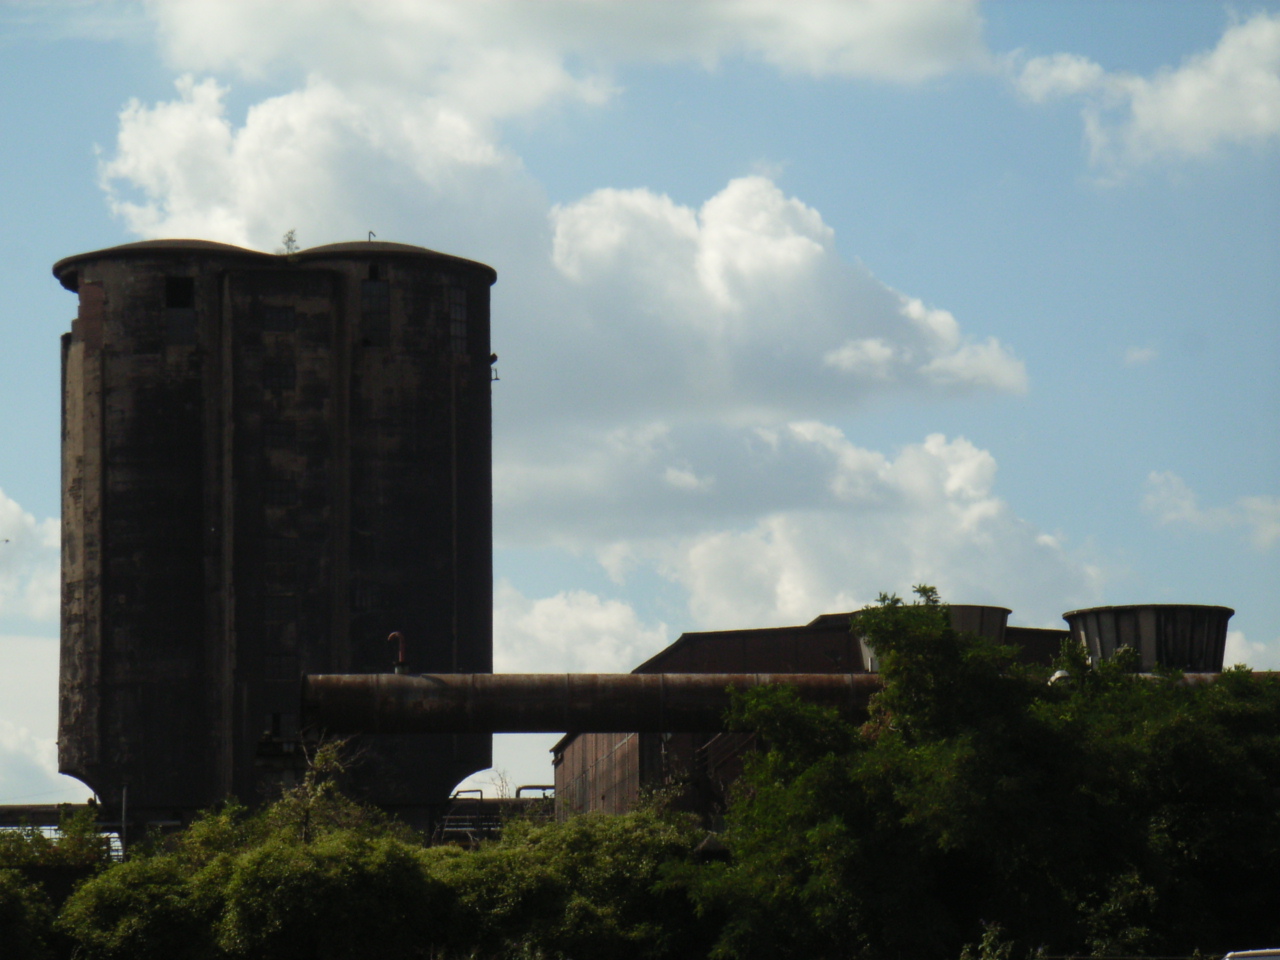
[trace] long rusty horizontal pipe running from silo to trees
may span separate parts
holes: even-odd
[[[355,673],[302,681],[303,721],[333,733],[692,732],[719,730],[728,690],[768,684],[849,716],[873,673]]]

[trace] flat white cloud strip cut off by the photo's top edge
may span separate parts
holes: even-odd
[[[982,67],[974,0],[151,0],[179,70],[264,76],[323,64],[339,82],[445,93],[490,115],[594,100],[625,63],[742,56],[809,77],[915,83]],[[573,64],[571,67],[571,64]]]

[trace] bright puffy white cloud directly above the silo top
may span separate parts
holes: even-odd
[[[312,78],[255,104],[237,127],[216,81],[186,76],[177,88],[173,101],[125,105],[115,152],[100,168],[113,211],[143,237],[270,247],[282,224],[317,241],[349,237],[365,223],[351,207],[381,165],[442,192],[513,163],[465,115],[398,93]]]

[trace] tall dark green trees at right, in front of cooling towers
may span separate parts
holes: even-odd
[[[954,632],[928,588],[858,628],[884,690],[861,727],[786,690],[744,698],[768,749],[701,902],[726,957],[1188,955],[1280,942],[1280,685],[1065,672]]]

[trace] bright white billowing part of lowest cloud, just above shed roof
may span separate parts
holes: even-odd
[[[964,438],[934,434],[888,457],[828,425],[791,424],[777,454],[829,497],[666,549],[703,627],[806,622],[918,582],[1011,607],[1024,623],[1052,625],[1062,604],[1097,596],[1094,572],[995,495],[995,458]]]

